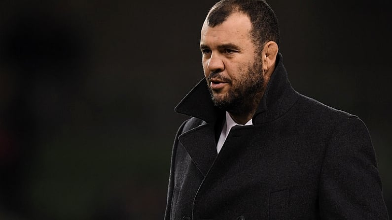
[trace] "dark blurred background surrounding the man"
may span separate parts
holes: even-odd
[[[214,0],[0,1],[0,219],[163,219]],[[392,210],[391,3],[268,0],[293,87],[359,116]]]

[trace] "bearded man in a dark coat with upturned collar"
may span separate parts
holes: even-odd
[[[176,107],[165,220],[386,220],[356,116],[298,94],[262,0],[221,0],[200,38],[205,78]]]

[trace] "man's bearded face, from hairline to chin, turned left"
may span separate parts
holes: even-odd
[[[250,107],[263,90],[261,53],[256,51],[250,30],[249,17],[233,13],[214,28],[204,22],[201,31],[203,70],[212,99],[233,113]]]

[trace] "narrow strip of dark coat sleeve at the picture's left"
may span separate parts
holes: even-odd
[[[170,161],[170,174],[169,174],[169,186],[166,200],[166,211],[165,211],[165,219],[170,220],[171,210],[172,210],[172,198],[173,198],[173,190],[174,190],[174,167],[176,161],[176,152],[178,146],[178,136],[181,134],[182,129],[187,121],[183,122],[181,126],[179,126],[176,137],[174,139],[173,150],[172,150],[172,158]]]

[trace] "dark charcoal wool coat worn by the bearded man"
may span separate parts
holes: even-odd
[[[372,142],[356,116],[301,95],[277,56],[251,126],[216,152],[223,111],[202,79],[178,104],[165,220],[387,220]]]

